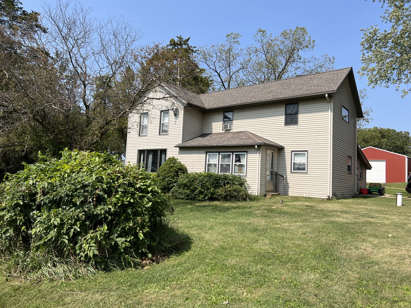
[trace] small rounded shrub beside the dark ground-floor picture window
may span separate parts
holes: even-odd
[[[169,193],[171,188],[175,186],[181,175],[187,173],[186,166],[176,159],[174,156],[169,157],[158,168],[157,179],[159,182],[159,188],[164,193]]]

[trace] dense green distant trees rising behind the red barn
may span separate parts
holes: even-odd
[[[383,127],[358,129],[357,142],[361,148],[378,147],[379,149],[411,156],[411,136],[408,131],[396,131]]]

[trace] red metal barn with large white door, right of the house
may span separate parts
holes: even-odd
[[[401,183],[407,181],[408,174],[411,172],[411,158],[376,147],[365,147],[362,150],[372,165],[372,169],[367,170],[367,182]]]

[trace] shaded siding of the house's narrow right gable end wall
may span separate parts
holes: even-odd
[[[349,198],[356,192],[356,108],[348,78],[332,97],[332,196]],[[349,122],[342,119],[342,107],[349,110]],[[347,158],[352,172],[347,172]]]

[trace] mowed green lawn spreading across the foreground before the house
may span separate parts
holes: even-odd
[[[3,282],[0,306],[409,307],[411,200],[403,204],[175,200],[185,251],[72,282]]]

